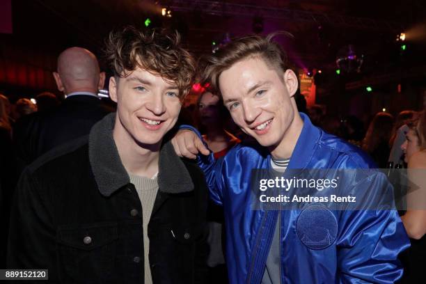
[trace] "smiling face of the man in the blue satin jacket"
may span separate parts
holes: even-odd
[[[265,147],[280,145],[293,123],[294,93],[289,93],[289,78],[297,86],[294,72],[279,72],[259,56],[238,61],[219,76],[223,102],[232,119]]]

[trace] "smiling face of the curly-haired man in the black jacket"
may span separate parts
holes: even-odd
[[[139,145],[159,145],[178,120],[181,101],[178,87],[159,75],[136,68],[127,77],[111,77],[109,92],[117,103],[114,132]]]

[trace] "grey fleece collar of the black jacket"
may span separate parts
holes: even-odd
[[[111,196],[130,183],[129,175],[113,140],[115,120],[116,113],[108,114],[93,126],[89,134],[90,166],[95,175],[97,187],[104,196]],[[171,141],[161,145],[158,184],[159,191],[168,194],[179,194],[194,189],[191,176],[180,157],[176,155]]]

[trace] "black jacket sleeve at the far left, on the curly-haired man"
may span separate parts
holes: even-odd
[[[56,233],[49,208],[53,207],[27,168],[17,184],[10,214],[7,267],[49,269],[49,281],[54,281],[58,279]]]

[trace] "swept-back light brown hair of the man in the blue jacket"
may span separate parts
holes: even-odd
[[[204,65],[200,70],[201,81],[203,84],[210,83],[212,91],[221,95],[219,88],[221,73],[238,61],[255,56],[259,56],[267,65],[279,72],[285,72],[289,68],[287,54],[278,42],[272,40],[280,34],[293,37],[291,33],[278,31],[267,37],[255,35],[232,40],[215,54],[202,59]]]

